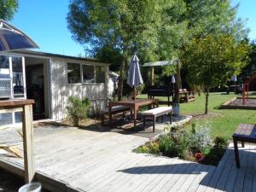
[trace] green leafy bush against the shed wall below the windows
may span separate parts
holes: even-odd
[[[79,126],[79,120],[87,118],[90,109],[89,99],[81,100],[76,96],[68,97],[67,112],[73,120],[73,126]]]

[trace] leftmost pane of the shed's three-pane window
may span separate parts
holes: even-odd
[[[67,63],[67,81],[68,84],[78,84],[81,83],[80,76],[80,64],[77,63]]]

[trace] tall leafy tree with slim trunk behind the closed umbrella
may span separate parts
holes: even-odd
[[[157,42],[160,26],[158,1],[146,0],[71,0],[67,23],[73,38],[92,49],[108,46],[122,55],[119,100],[125,63],[138,49],[150,55]],[[146,51],[147,50],[147,51]]]

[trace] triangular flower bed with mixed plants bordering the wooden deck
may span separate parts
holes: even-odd
[[[179,157],[183,160],[218,166],[228,143],[224,137],[210,137],[210,124],[191,125],[189,131],[183,127],[166,127],[164,135],[136,148],[137,153]]]

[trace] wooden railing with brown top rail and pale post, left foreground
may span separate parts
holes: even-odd
[[[35,177],[33,156],[33,118],[32,104],[34,100],[3,100],[0,101],[0,113],[22,112],[22,136],[25,182],[30,183]]]

